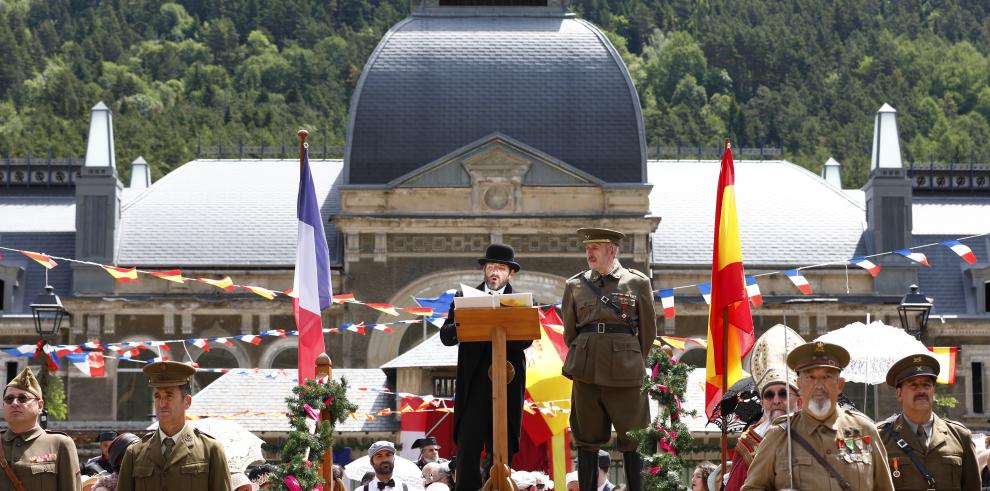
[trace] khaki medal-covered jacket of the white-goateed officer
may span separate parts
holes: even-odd
[[[789,488],[787,465],[787,417],[780,417],[767,430],[749,465],[742,489]],[[887,452],[876,426],[866,416],[836,407],[832,416],[818,421],[799,411],[793,416],[792,432],[804,437],[812,448],[842,476],[852,489],[892,491]],[[869,437],[867,444],[865,437]],[[840,450],[837,440],[843,439]],[[796,441],[792,442],[794,488],[801,491],[840,491],[839,482]]]

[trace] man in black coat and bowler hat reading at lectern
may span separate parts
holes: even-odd
[[[478,259],[484,268],[485,278],[478,289],[489,294],[512,293],[509,279],[519,272],[515,251],[511,246],[492,244],[485,257]],[[457,296],[461,296],[457,292]],[[454,441],[457,442],[457,490],[481,489],[481,451],[487,448],[486,469],[491,465],[494,451],[492,442],[492,381],[488,369],[492,364],[491,343],[457,342],[457,325],[454,321],[454,305],[451,304],[447,321],[440,328],[440,340],[446,346],[457,347],[457,381],[454,386]],[[519,432],[522,429],[523,393],[526,390],[526,355],[523,351],[532,341],[506,343],[506,360],[512,364],[515,375],[506,388],[508,398],[509,461],[519,450]],[[486,472],[487,474],[487,472]]]

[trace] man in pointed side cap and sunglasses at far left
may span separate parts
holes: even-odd
[[[30,368],[4,388],[7,429],[0,436],[0,491],[81,488],[76,444],[64,433],[41,429],[38,416],[44,408],[41,385]]]

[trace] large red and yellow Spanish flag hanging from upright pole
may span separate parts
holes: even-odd
[[[735,170],[728,139],[725,141],[715,197],[711,289],[705,372],[705,414],[709,418],[722,398],[723,387],[729,387],[743,378],[742,359],[753,348],[755,341],[753,318],[746,296],[739,220],[736,216]]]

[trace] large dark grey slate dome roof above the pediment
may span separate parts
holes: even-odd
[[[413,16],[351,101],[344,182],[383,184],[493,133],[605,182],[645,182],[639,97],[621,58],[565,16]]]

